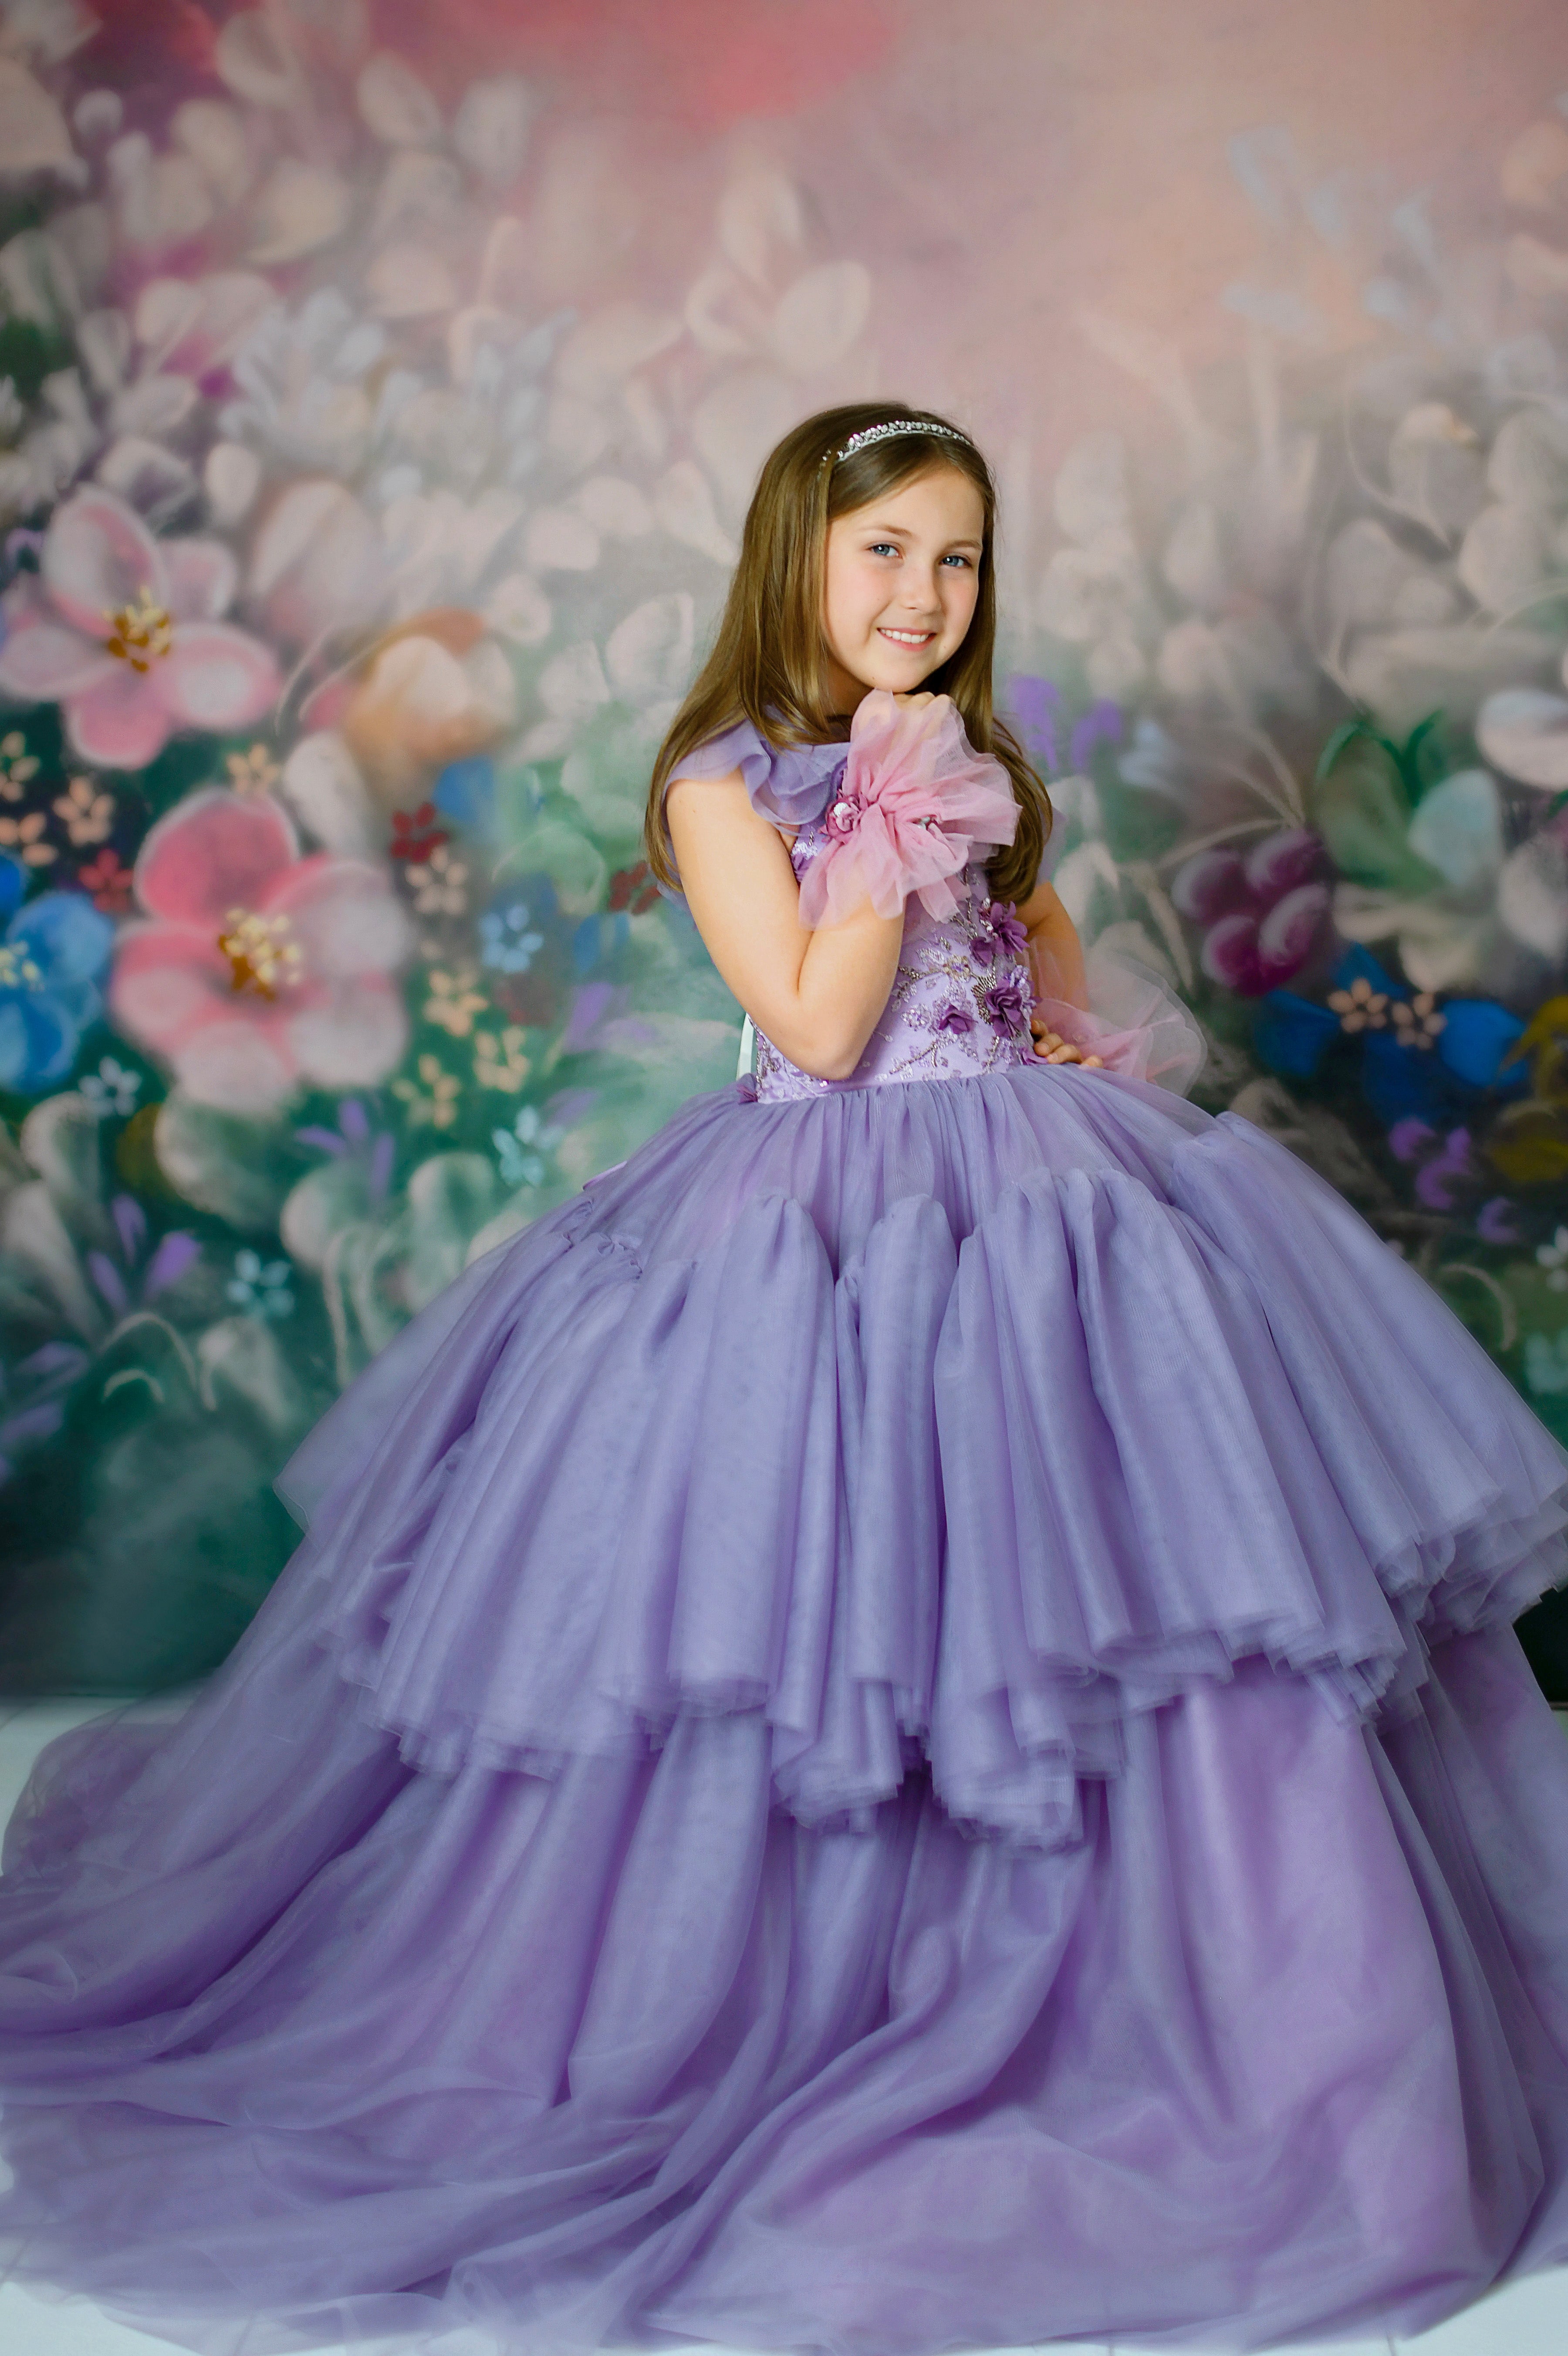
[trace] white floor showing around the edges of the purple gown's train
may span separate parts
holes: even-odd
[[[38,1751],[66,1727],[106,1710],[106,1701],[38,1701],[14,1708],[0,1701],[0,1824],[7,1821]],[[1559,1710],[1568,1729],[1568,1713]],[[1450,2323],[1417,2340],[1335,2340],[1307,2347],[1295,2342],[1290,2356],[1568,2356],[1568,2266],[1533,2274],[1523,2283],[1495,2290]],[[170,2356],[167,2340],[111,2323],[87,2299],[42,2299],[19,2283],[0,2283],[0,2351],[5,2356]],[[332,2351],[337,2356],[337,2351]],[[706,2347],[692,2356],[732,2356]],[[994,2351],[1024,2356],[1024,2351]],[[1052,2340],[1041,2356],[1116,2356],[1099,2342]]]

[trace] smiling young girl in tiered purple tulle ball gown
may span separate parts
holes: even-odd
[[[756,1074],[332,1409],[174,1725],[45,1751],[24,2278],[212,2356],[935,2356],[1403,2335],[1568,2257],[1509,1626],[1568,1456],[1184,1100],[1158,985],[1083,1004],[991,544],[937,417],[770,457],[650,806]]]

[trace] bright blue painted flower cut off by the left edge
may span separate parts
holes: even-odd
[[[0,855],[0,1088],[35,1096],[66,1077],[97,1020],[115,928],[87,893],[47,891],[21,907],[26,869]]]

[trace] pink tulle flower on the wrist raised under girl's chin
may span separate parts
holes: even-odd
[[[946,695],[911,707],[873,688],[850,726],[824,832],[826,848],[800,879],[800,924],[841,924],[866,898],[878,916],[897,916],[911,893],[942,919],[958,909],[946,879],[975,846],[1017,834],[1017,801],[1008,770],[972,749]]]

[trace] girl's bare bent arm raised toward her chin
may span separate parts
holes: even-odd
[[[692,921],[756,1027],[815,1079],[848,1079],[888,1004],[904,914],[862,900],[841,924],[800,924],[784,839],[739,770],[676,777],[666,801]]]

